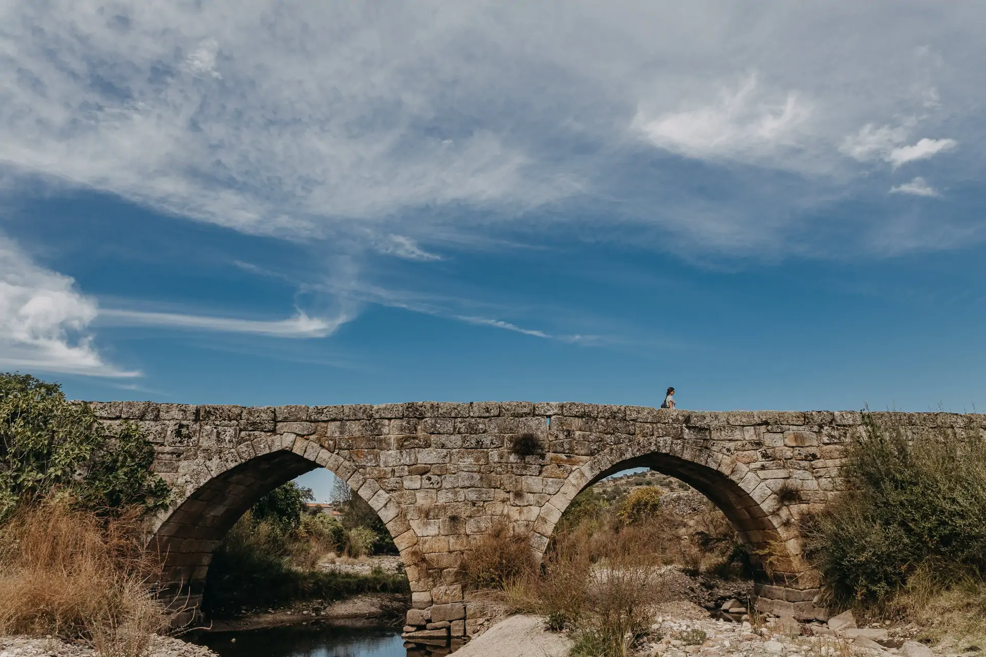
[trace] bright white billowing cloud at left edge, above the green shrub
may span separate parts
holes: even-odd
[[[0,364],[33,371],[137,376],[104,361],[86,333],[96,301],[0,237]]]

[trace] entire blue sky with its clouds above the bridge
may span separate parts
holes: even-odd
[[[986,407],[981,3],[7,3],[0,368]]]

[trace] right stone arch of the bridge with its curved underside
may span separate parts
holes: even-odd
[[[578,493],[622,470],[646,467],[685,482],[712,501],[749,549],[758,607],[810,619],[817,574],[802,557],[801,535],[776,493],[784,479],[761,478],[732,456],[681,438],[635,439],[600,451],[541,507],[531,547],[541,558],[555,525]]]

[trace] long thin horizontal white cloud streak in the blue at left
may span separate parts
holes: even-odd
[[[351,318],[347,313],[340,313],[332,319],[309,317],[302,311],[289,319],[266,321],[117,308],[100,311],[100,323],[106,326],[156,326],[220,333],[248,333],[274,338],[324,338],[332,335]]]

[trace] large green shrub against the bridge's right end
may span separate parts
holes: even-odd
[[[879,602],[918,568],[940,584],[986,572],[986,442],[909,434],[866,414],[843,469],[847,492],[806,526],[838,602]]]

